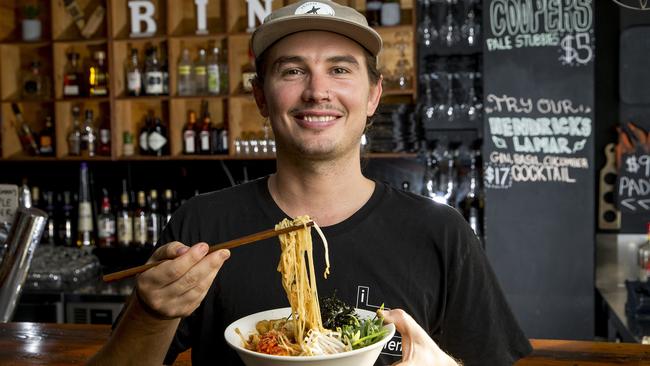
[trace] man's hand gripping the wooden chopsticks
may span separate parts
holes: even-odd
[[[136,280],[136,301],[149,315],[175,319],[190,315],[208,293],[223,263],[227,249],[208,253],[208,244],[191,247],[174,241],[158,248],[150,262],[168,259],[140,275]]]

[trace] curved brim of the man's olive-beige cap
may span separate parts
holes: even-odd
[[[340,18],[295,15],[288,19],[281,18],[261,25],[253,33],[253,53],[255,57],[258,57],[273,43],[292,33],[318,30],[348,37],[367,49],[373,56],[377,56],[381,50],[381,37],[372,28]]]

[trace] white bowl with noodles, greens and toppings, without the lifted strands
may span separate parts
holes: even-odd
[[[355,309],[349,326],[309,329],[296,339],[291,308],[262,311],[230,324],[224,337],[247,366],[372,366],[395,334],[374,312]]]

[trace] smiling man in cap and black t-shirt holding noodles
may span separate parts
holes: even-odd
[[[253,34],[254,95],[277,141],[277,172],[182,206],[92,364],[240,364],[223,339],[232,321],[288,305],[277,239],[206,255],[219,243],[307,214],[330,247],[321,295],[380,304],[399,332],[379,365],[506,365],[530,351],[477,238],[448,206],[362,175],[360,139],[381,97],[381,38],[351,8],[301,1]],[[318,243],[318,242],[316,242]],[[191,246],[186,246],[191,245]],[[314,247],[317,272],[323,249]],[[226,260],[228,260],[226,262]]]

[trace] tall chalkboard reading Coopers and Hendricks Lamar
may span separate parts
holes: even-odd
[[[594,335],[590,0],[487,0],[486,250],[524,331]]]

